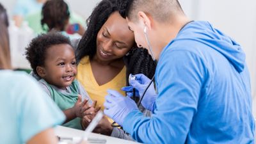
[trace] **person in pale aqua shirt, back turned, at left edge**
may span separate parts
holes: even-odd
[[[1,143],[54,144],[58,140],[52,127],[65,116],[22,72],[8,70],[10,49],[6,10],[0,4],[0,131]],[[24,84],[26,83],[26,84]]]

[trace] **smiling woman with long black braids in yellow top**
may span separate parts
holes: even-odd
[[[77,47],[77,79],[100,106],[109,88],[125,94],[121,88],[128,84],[129,74],[151,78],[155,71],[147,50],[136,47],[133,33],[118,12],[119,5],[115,0],[101,1],[87,20],[87,31]],[[131,139],[106,119],[97,128],[95,132],[101,134]]]

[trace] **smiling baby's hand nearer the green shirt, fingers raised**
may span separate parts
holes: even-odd
[[[73,106],[74,113],[76,114],[76,117],[83,118],[83,111],[82,109],[87,105],[88,100],[84,100],[82,102],[81,95],[78,95],[78,99],[76,104]]]

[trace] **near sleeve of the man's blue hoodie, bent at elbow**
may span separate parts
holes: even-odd
[[[207,70],[189,51],[164,51],[156,70],[158,97],[151,118],[140,111],[125,117],[124,129],[142,143],[185,143]]]

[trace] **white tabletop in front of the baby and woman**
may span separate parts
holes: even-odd
[[[78,129],[72,129],[69,127],[63,127],[58,125],[55,129],[54,129],[55,133],[57,136],[60,137],[82,137],[83,136],[83,132],[81,130]],[[102,134],[95,134],[95,133],[91,133],[89,135],[89,138],[104,138],[107,140],[106,144],[136,144],[136,142],[134,141],[128,141],[128,140],[122,140],[120,138],[113,138],[111,136],[104,136]],[[138,144],[138,143],[137,143]]]

